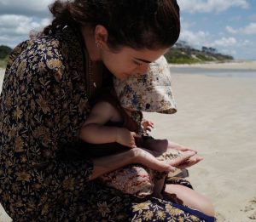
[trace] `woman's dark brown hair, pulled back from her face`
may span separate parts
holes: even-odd
[[[165,48],[177,42],[180,33],[176,0],[74,0],[55,1],[54,16],[44,28],[49,34],[65,26],[105,26],[111,48]]]

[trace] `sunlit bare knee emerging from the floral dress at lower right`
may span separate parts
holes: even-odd
[[[177,202],[178,204],[197,209],[202,213],[206,213],[208,216],[214,216],[214,208],[212,203],[207,200],[207,197],[186,186],[166,185],[164,198],[168,199],[168,196],[169,199],[172,199],[172,201]]]

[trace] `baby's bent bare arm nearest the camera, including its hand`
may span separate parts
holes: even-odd
[[[118,111],[108,102],[97,103],[90,111],[90,116],[84,122],[80,138],[91,144],[106,144],[117,142],[131,148],[136,147],[136,133],[126,128],[105,126],[108,121],[116,120]]]

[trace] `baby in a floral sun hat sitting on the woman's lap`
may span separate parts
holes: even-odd
[[[147,74],[119,80],[113,77],[113,89],[105,88],[95,100],[90,116],[84,122],[80,138],[87,142],[91,157],[102,157],[135,147],[159,152],[160,160],[195,155],[181,147],[172,149],[166,139],[154,139],[147,134],[150,122],[143,122],[142,111],[175,113],[171,76],[166,59],[161,57],[151,64]],[[144,127],[142,127],[144,123]],[[199,162],[200,160],[198,160]],[[153,195],[161,198],[166,174],[142,165],[131,165],[102,175],[100,181],[125,193],[138,197]]]

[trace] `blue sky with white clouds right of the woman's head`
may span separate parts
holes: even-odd
[[[179,0],[181,40],[217,48],[237,60],[256,60],[255,0]]]

